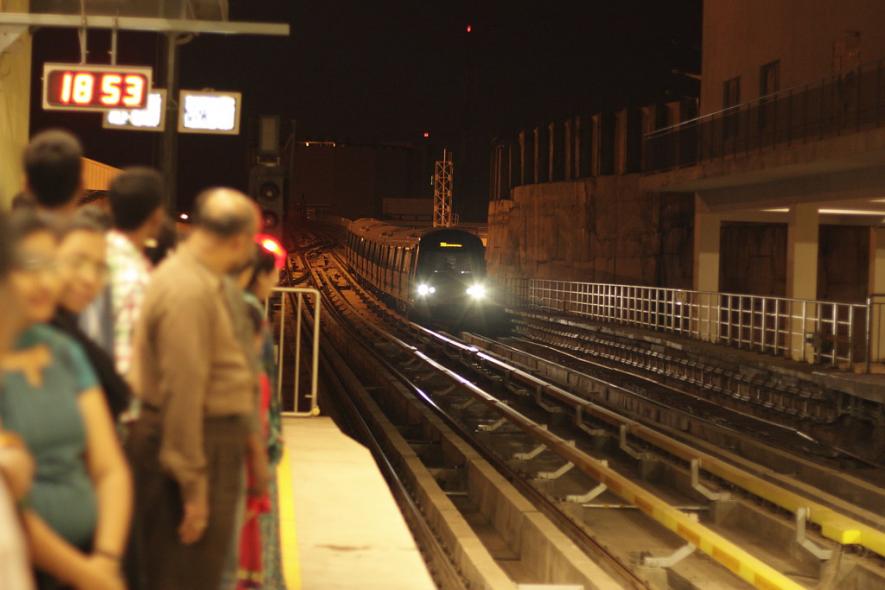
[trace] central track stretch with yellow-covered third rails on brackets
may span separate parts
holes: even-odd
[[[820,502],[814,489],[770,481],[764,466],[736,465],[713,444],[690,444],[684,432],[652,428],[596,403],[603,396],[567,391],[542,376],[550,366],[508,359],[500,348],[506,345],[468,344],[408,324],[334,256],[326,262],[314,269],[314,280],[351,335],[361,334],[388,367],[398,367],[413,400],[423,400],[536,506],[545,505],[552,521],[571,527],[570,538],[583,536],[582,549],[620,575],[619,583],[802,588],[877,579],[876,558],[854,550],[881,555],[877,529]],[[633,409],[651,401],[636,399]],[[395,403],[385,398],[385,405]],[[446,470],[435,476],[455,477]],[[837,543],[799,533],[817,525]]]

